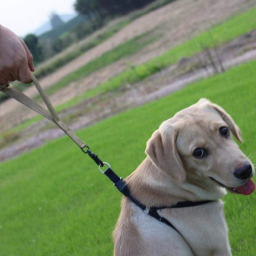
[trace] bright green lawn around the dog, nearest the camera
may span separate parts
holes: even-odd
[[[159,124],[206,97],[242,130],[241,149],[255,156],[256,61],[190,84],[165,98],[78,132],[120,176],[145,157]],[[0,252],[9,255],[112,255],[121,195],[66,136],[0,164]],[[255,193],[225,196],[234,256],[255,255]]]

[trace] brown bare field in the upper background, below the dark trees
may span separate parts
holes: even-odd
[[[102,70],[95,72],[88,79],[95,80],[97,83],[93,83],[96,86],[102,83],[111,76],[114,76],[118,72],[121,72],[126,67],[126,62],[131,61],[133,64],[140,64],[146,60],[149,60],[166,50],[172,48],[174,45],[180,44],[181,42],[189,39],[196,34],[210,28],[213,24],[217,24],[225,20],[230,15],[236,12],[247,10],[248,8],[255,5],[255,0],[179,0],[171,4],[165,5],[156,11],[150,12],[132,23],[124,27],[122,30],[117,32],[114,36],[104,41],[102,44],[92,48],[75,60],[70,61],[67,65],[58,69],[53,74],[41,79],[41,84],[44,88],[51,86],[52,84],[59,81],[64,76],[74,72],[77,68],[85,65],[90,60],[100,56],[104,52],[113,49],[118,44],[121,44],[135,36],[157,28],[158,33],[162,36],[149,45],[146,49],[143,49],[135,56],[131,58],[125,58],[120,62],[116,62],[113,65],[108,66],[104,69],[104,75],[101,75]],[[152,22],[153,21],[153,22]],[[189,36],[188,36],[189,35]],[[188,38],[189,37],[189,38]],[[121,64],[121,65],[120,65]],[[59,92],[52,100],[53,105],[57,106],[60,103],[66,102],[72,99],[76,95],[88,89],[88,85],[84,81],[81,86],[78,83],[71,84],[72,90]],[[78,88],[76,90],[76,88]],[[66,90],[66,89],[65,89]],[[70,93],[72,92],[72,93]],[[25,92],[28,96],[32,97],[37,94],[34,87],[30,87]],[[31,117],[31,114],[25,115],[23,111],[22,115],[16,114],[16,110],[20,108],[20,104],[10,99],[1,104],[0,117],[11,113],[11,117],[5,119],[5,122],[12,122],[14,125],[20,123]],[[7,125],[8,127],[8,125]]]

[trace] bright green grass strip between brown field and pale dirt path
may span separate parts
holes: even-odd
[[[115,90],[123,84],[133,84],[141,81],[146,77],[166,68],[167,66],[174,64],[183,57],[193,56],[197,52],[201,52],[203,47],[212,48],[213,46],[217,46],[232,40],[237,36],[241,36],[256,28],[256,19],[253,19],[255,16],[256,7],[250,9],[249,11],[235,15],[223,23],[220,23],[207,31],[204,31],[200,35],[191,38],[183,44],[175,46],[174,48],[152,60],[149,60],[139,66],[127,68],[119,75],[109,79],[107,82],[99,84],[99,86],[96,88],[84,92],[64,105],[59,106],[58,110],[60,111],[64,108],[68,108],[77,104],[80,100],[94,97],[97,94]],[[81,67],[79,70],[83,70],[85,66]],[[76,81],[83,77],[84,74],[79,72],[79,70],[64,77],[62,80],[60,80],[60,82],[58,82],[57,86],[59,87],[59,84],[61,84],[61,86],[66,86],[67,83],[70,83],[70,80]]]

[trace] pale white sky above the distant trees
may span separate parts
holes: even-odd
[[[76,0],[0,0],[0,24],[18,36],[34,32],[51,12],[72,14]]]

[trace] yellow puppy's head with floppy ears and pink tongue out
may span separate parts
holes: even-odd
[[[251,194],[254,167],[231,133],[242,142],[231,116],[220,106],[201,99],[164,121],[148,140],[146,154],[177,182],[193,174],[233,192]]]

